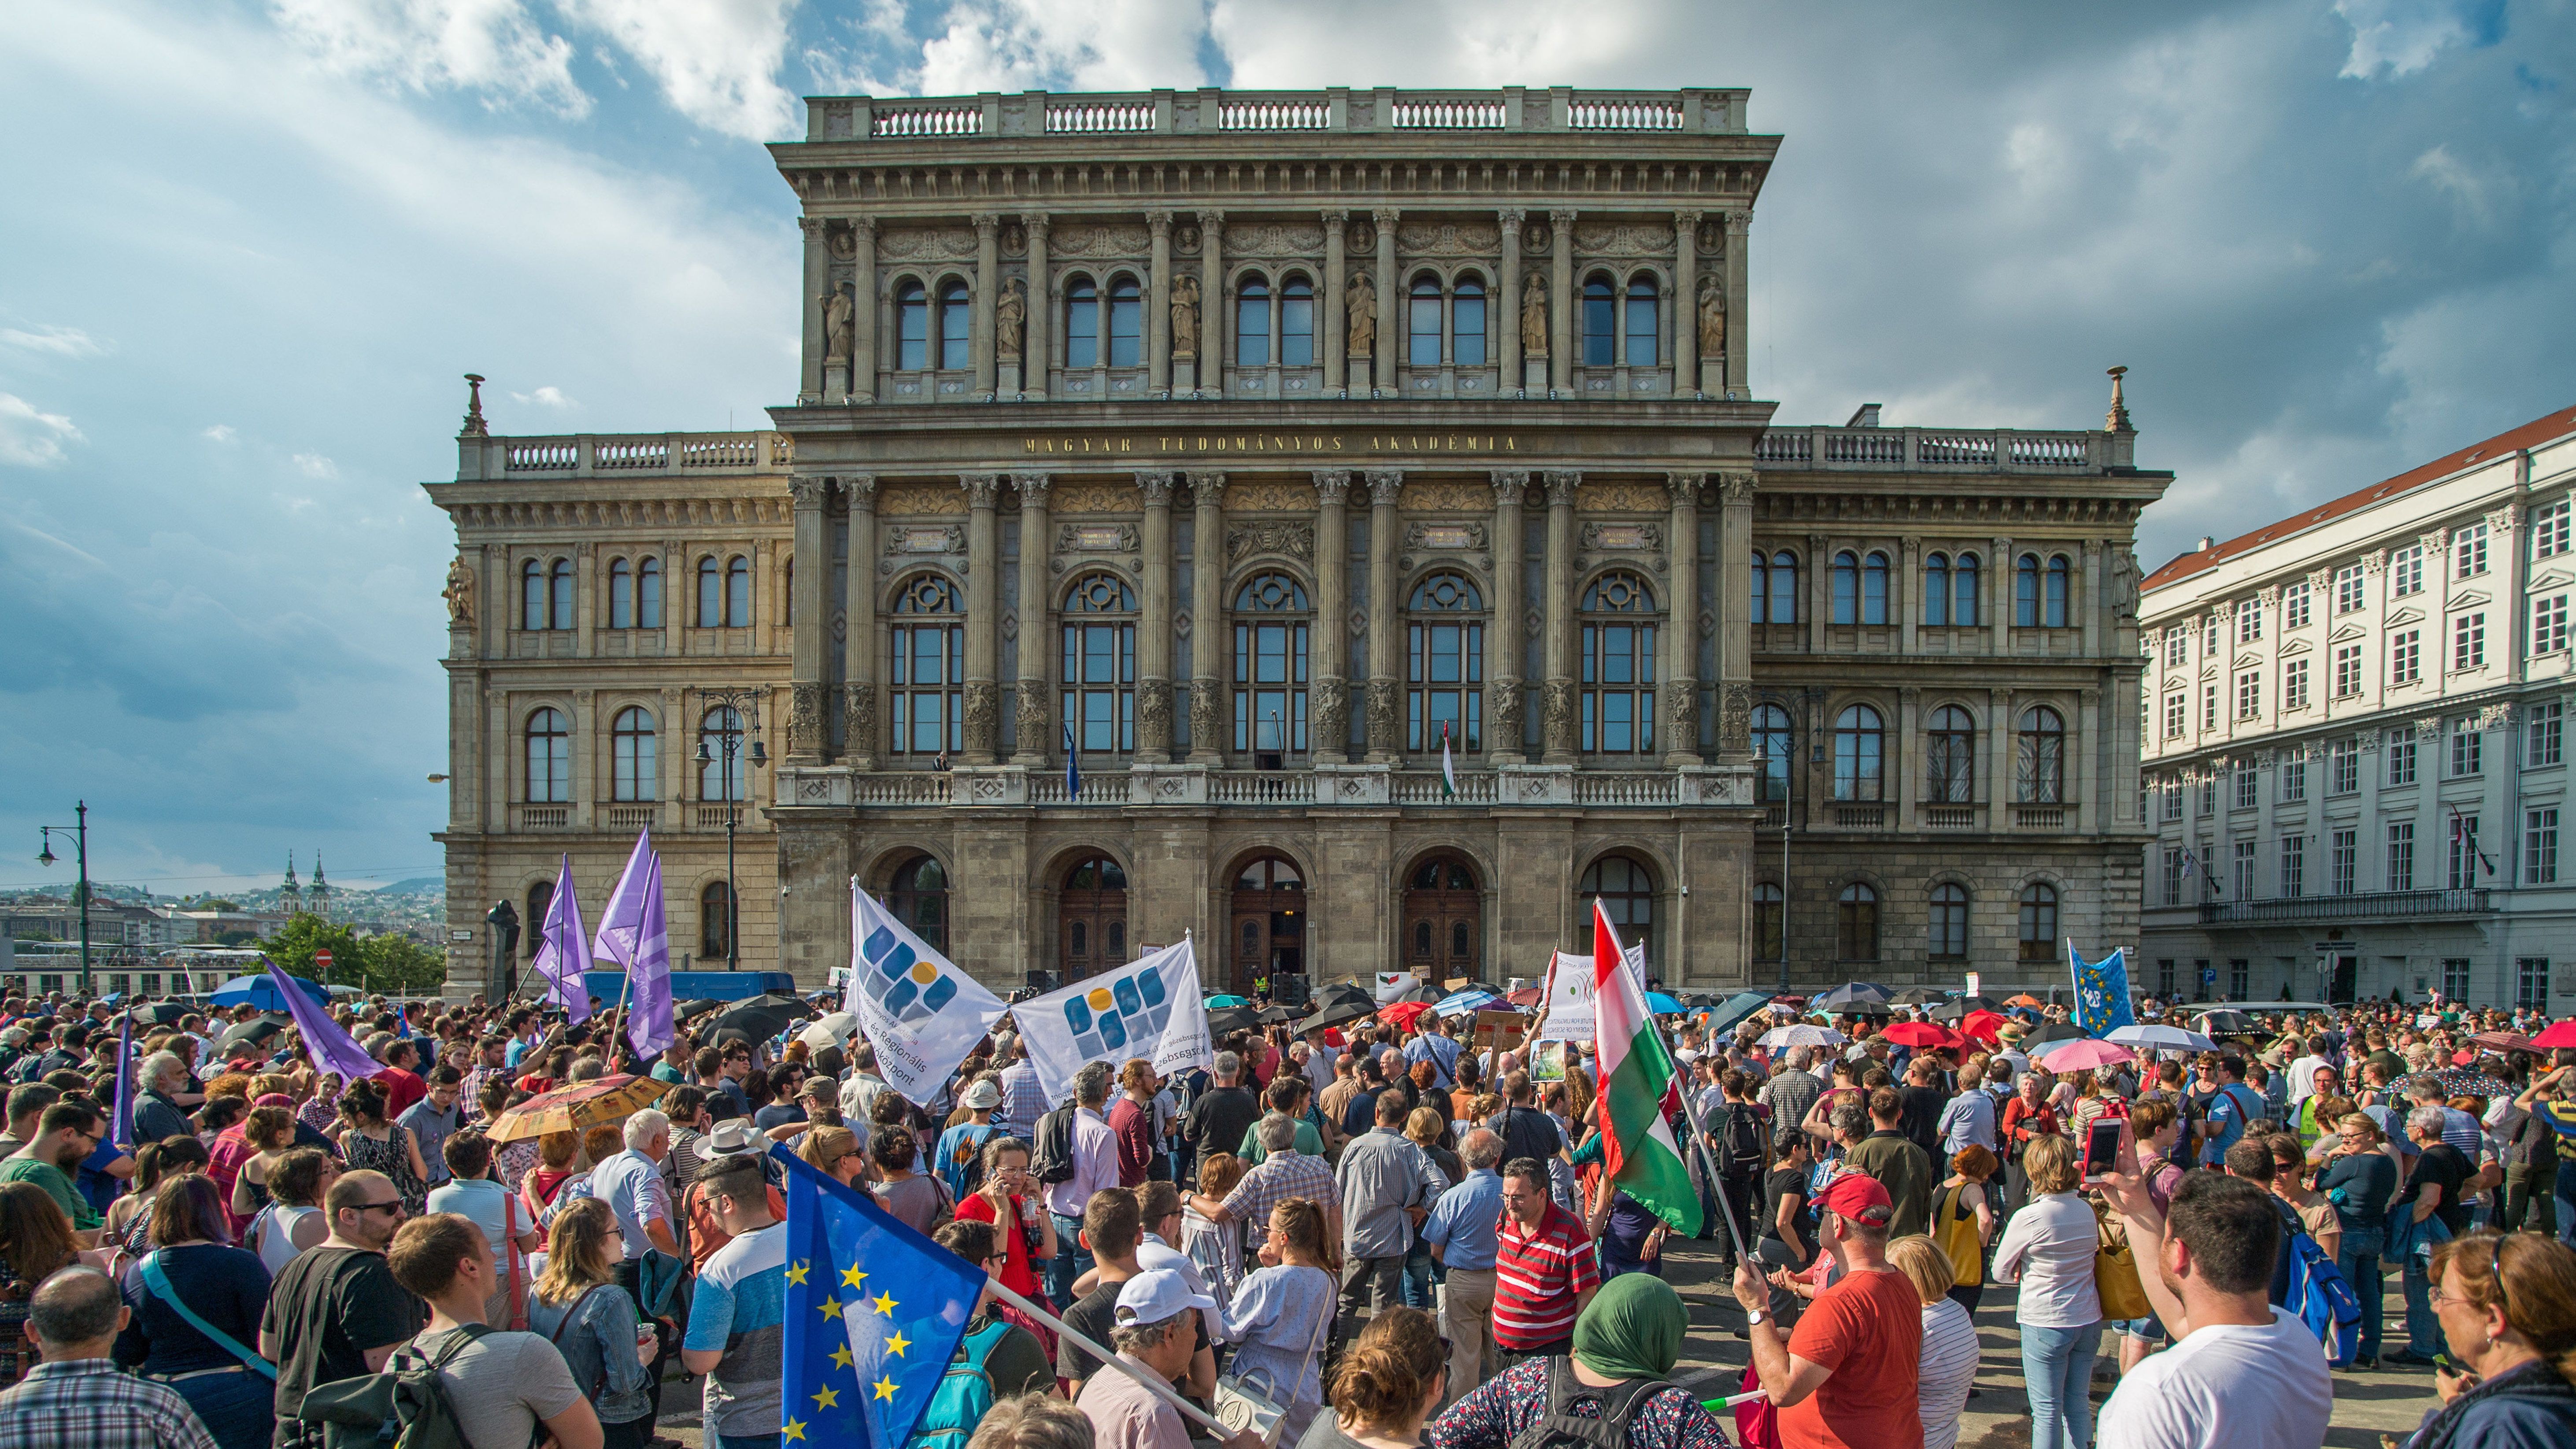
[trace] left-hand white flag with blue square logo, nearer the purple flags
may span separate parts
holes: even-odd
[[[930,1102],[1007,1006],[853,880],[842,1009],[876,1048],[876,1076]]]

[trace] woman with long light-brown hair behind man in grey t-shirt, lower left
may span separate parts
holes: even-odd
[[[657,1343],[636,1300],[618,1287],[623,1256],[616,1212],[598,1197],[577,1197],[554,1215],[546,1271],[528,1292],[528,1331],[554,1341],[574,1387],[600,1413],[600,1449],[644,1449],[652,1426],[644,1369]]]

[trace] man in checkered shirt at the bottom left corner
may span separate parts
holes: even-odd
[[[108,1354],[129,1315],[98,1269],[44,1279],[28,1305],[44,1361],[0,1392],[0,1449],[216,1449],[178,1390],[116,1369]]]

